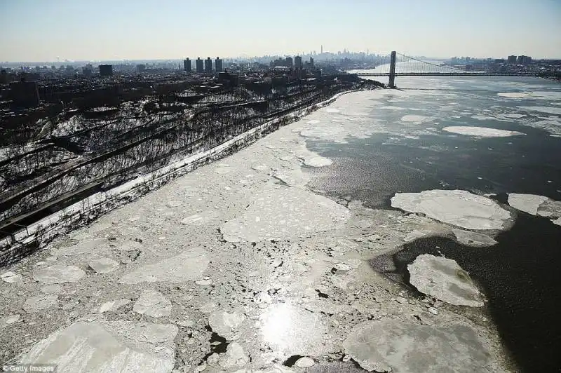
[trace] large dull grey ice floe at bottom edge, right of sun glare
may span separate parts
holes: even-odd
[[[367,321],[351,331],[345,353],[369,372],[482,372],[489,351],[467,325]]]

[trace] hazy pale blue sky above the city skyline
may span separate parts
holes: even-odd
[[[561,0],[0,0],[0,61],[561,57]]]

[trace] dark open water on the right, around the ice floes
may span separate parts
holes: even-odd
[[[336,102],[333,106],[339,104],[341,113],[330,115],[341,123],[345,117],[362,115],[364,126],[371,121],[373,128],[379,128],[383,123],[386,130],[366,138],[349,137],[346,144],[322,136],[309,139],[311,150],[334,160],[327,173],[316,171],[311,186],[377,208],[388,208],[396,192],[427,189],[494,193],[503,203],[508,193],[561,201],[561,138],[550,136],[561,133],[561,85],[539,79],[471,79],[431,79],[429,86],[447,89],[442,94],[438,90],[427,95],[372,93],[372,98],[360,97],[370,102]],[[422,84],[420,79],[410,81],[411,86]],[[466,88],[478,91],[461,90]],[[388,106],[393,109],[383,109]],[[400,119],[410,114],[431,119],[404,125]],[[318,126],[328,115],[318,114]],[[445,133],[445,126],[480,126],[526,135],[476,138]],[[393,260],[403,270],[417,255],[439,255],[438,245],[442,254],[480,283],[490,316],[520,368],[557,372],[561,367],[561,226],[520,212],[513,228],[497,240],[494,247],[474,249],[445,238],[424,238],[405,245]]]

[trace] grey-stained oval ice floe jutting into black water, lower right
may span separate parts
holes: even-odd
[[[452,259],[419,255],[407,266],[410,283],[424,294],[456,306],[480,307],[480,292],[468,273]]]

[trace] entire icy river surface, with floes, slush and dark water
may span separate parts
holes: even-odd
[[[342,95],[1,269],[0,360],[554,370],[560,86],[397,83],[433,89]]]

